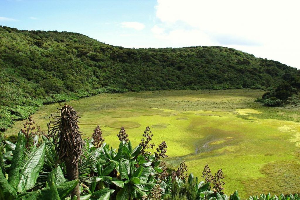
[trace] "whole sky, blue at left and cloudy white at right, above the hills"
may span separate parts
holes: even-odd
[[[298,0],[0,0],[0,25],[128,48],[226,46],[300,69]]]

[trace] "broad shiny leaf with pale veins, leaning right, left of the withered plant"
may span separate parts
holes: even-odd
[[[41,146],[35,152],[33,152],[31,157],[26,161],[20,176],[17,192],[29,190],[35,185],[38,175],[43,168],[45,146],[46,143],[42,143]]]

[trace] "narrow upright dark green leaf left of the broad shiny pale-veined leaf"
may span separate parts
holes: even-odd
[[[11,161],[10,170],[8,174],[8,183],[15,189],[18,186],[19,178],[22,176],[21,171],[24,164],[23,163],[24,151],[25,151],[25,136],[20,131],[18,134],[18,142],[16,143],[16,148],[13,151],[13,160]]]

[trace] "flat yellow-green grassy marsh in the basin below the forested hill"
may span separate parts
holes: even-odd
[[[264,107],[253,100],[264,91],[148,91],[99,94],[67,102],[81,116],[80,130],[89,137],[101,125],[105,142],[117,148],[124,126],[134,145],[149,126],[156,145],[166,141],[167,163],[184,160],[200,177],[206,163],[213,173],[222,168],[225,193],[241,197],[270,192],[299,193],[300,125],[297,107]],[[33,115],[47,130],[49,114],[58,103]],[[7,134],[16,134],[24,121]]]

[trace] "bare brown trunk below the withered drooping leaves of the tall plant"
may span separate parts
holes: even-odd
[[[73,163],[73,158],[71,156],[65,157],[66,169],[67,169],[67,176],[69,181],[77,180],[78,179],[78,161]],[[80,200],[80,191],[79,191],[79,184],[72,190],[71,192],[71,199],[73,196],[77,196],[77,200]]]

